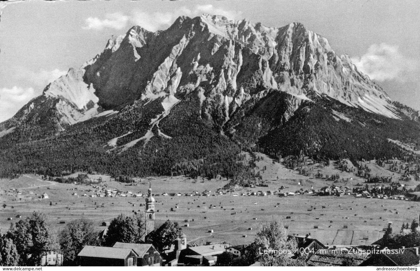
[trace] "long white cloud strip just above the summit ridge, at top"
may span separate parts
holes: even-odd
[[[221,8],[215,8],[213,5],[196,5],[194,8],[181,7],[173,10],[172,12],[135,12],[131,16],[131,21],[136,25],[142,26],[149,31],[156,31],[158,29],[164,29],[171,26],[173,21],[181,15],[189,17],[196,17],[202,15],[202,13],[209,13],[212,15],[223,15],[229,19],[236,20],[239,18],[241,12],[236,10],[224,10]]]

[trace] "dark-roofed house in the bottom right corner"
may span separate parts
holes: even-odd
[[[414,266],[420,263],[419,248],[383,249],[359,266]]]

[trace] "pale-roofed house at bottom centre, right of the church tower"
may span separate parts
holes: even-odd
[[[183,261],[186,264],[213,266],[217,263],[217,256],[231,247],[228,243],[214,243],[187,248]]]

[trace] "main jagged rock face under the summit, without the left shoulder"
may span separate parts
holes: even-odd
[[[84,67],[100,104],[115,108],[138,98],[183,95],[197,89],[204,111],[220,106],[226,118],[265,89],[309,100],[317,95],[398,118],[390,98],[337,56],[327,39],[300,23],[271,28],[222,16],[180,17],[165,31],[135,26]]]

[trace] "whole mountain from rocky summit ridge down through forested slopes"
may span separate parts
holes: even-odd
[[[52,175],[82,167],[239,174],[244,148],[317,159],[404,155],[388,138],[417,144],[418,115],[300,23],[270,28],[204,14],[113,37],[1,123],[0,148],[10,163],[24,157],[7,174],[45,170],[43,156],[57,148],[69,152],[53,155],[63,166],[49,166]],[[37,145],[38,158],[29,162],[22,144]],[[139,164],[126,166],[130,159]]]

